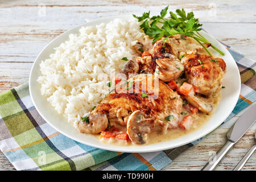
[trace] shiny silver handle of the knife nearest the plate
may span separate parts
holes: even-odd
[[[216,157],[212,162],[208,162],[201,171],[212,171],[218,163],[226,156],[228,151],[233,147],[234,142],[226,141],[224,146],[217,152]]]

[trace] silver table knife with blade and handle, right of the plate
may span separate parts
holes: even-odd
[[[245,113],[237,120],[236,123],[229,129],[226,137],[228,141],[217,152],[216,158],[212,162],[208,162],[202,171],[212,171],[218,163],[225,157],[233,145],[246,133],[246,131],[256,121],[256,103],[247,108]]]

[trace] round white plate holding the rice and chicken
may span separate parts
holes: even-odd
[[[121,18],[126,19],[133,17],[123,16]],[[42,96],[40,93],[40,85],[36,81],[38,76],[40,75],[39,64],[42,60],[49,58],[50,53],[55,52],[53,48],[58,47],[61,43],[65,42],[65,40],[68,40],[69,34],[78,34],[79,29],[82,26],[95,26],[99,23],[108,23],[112,19],[113,18],[94,20],[92,22],[84,23],[80,26],[72,28],[71,30],[64,32],[64,34],[61,34],[60,36],[52,40],[52,42],[50,42],[43,49],[43,51],[39,53],[38,57],[36,57],[30,73],[30,96],[36,110],[38,110],[39,114],[49,123],[49,125],[55,128],[57,131],[60,131],[60,133],[66,135],[67,137],[72,138],[77,142],[87,144],[89,146],[119,152],[152,152],[166,150],[169,148],[174,148],[193,142],[203,137],[204,135],[207,135],[225,121],[225,119],[234,109],[234,106],[236,106],[240,94],[240,73],[238,71],[236,62],[234,61],[228,50],[224,46],[222,46],[222,44],[219,43],[216,39],[214,39],[213,36],[205,32],[201,32],[201,34],[205,36],[205,38],[207,38],[210,43],[212,43],[214,46],[218,47],[222,52],[225,53],[225,56],[221,56],[212,50],[214,54],[225,60],[227,71],[223,78],[223,85],[225,86],[225,89],[221,89],[221,101],[217,107],[216,112],[203,127],[196,130],[195,132],[167,142],[160,142],[147,146],[113,146],[110,144],[101,143],[99,140],[91,135],[79,133],[79,131],[76,130],[71,123],[67,122],[67,119],[65,119],[62,115],[57,114],[54,108],[49,104],[49,102],[47,102],[46,97]]]

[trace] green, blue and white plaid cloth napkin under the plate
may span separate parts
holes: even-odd
[[[230,119],[256,99],[256,63],[226,48],[236,60],[242,81],[240,98]],[[0,131],[0,149],[18,170],[160,170],[201,140],[141,154],[86,146],[60,134],[40,117],[32,104],[28,84],[0,95]]]

